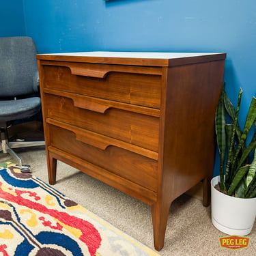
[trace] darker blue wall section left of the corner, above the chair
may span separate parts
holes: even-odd
[[[23,0],[0,3],[0,37],[25,35]]]

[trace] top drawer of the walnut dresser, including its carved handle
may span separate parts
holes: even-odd
[[[44,87],[160,109],[161,68],[42,61]]]

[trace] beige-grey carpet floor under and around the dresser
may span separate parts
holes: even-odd
[[[31,165],[33,175],[48,182],[44,148],[16,149],[23,164]],[[12,160],[0,153],[0,162]],[[105,221],[154,248],[150,206],[112,188],[85,173],[58,162],[57,184],[53,186]],[[226,236],[211,223],[210,207],[188,195],[176,199],[169,212],[162,256],[256,255],[256,227],[248,236],[251,244],[239,251],[221,248],[218,238]],[[111,255],[109,255],[111,256]]]

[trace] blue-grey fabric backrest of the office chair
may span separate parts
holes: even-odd
[[[29,37],[0,38],[0,98],[34,94],[38,83],[36,47]]]

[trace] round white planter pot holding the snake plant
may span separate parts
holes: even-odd
[[[228,235],[246,236],[251,233],[256,217],[256,198],[243,199],[225,195],[214,186],[220,176],[212,178],[212,224]]]

